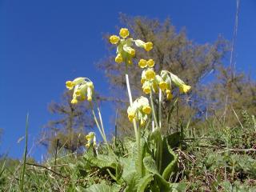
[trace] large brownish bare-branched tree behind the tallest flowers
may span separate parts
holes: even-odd
[[[133,90],[134,98],[142,94],[142,85],[140,83],[141,70],[134,70],[140,58],[154,58],[156,65],[156,72],[161,70],[169,70],[178,77],[182,78],[186,84],[192,86],[192,91],[189,95],[183,96],[182,100],[178,102],[178,116],[182,118],[196,117],[200,111],[200,102],[198,98],[198,91],[202,78],[209,74],[212,70],[216,70],[217,66],[222,65],[222,58],[228,50],[225,40],[218,38],[213,44],[198,45],[195,42],[186,38],[185,30],[176,32],[174,26],[171,25],[170,19],[167,18],[165,22],[159,22],[156,19],[148,19],[142,17],[127,17],[121,15],[122,27],[126,26],[130,30],[130,36],[134,39],[142,39],[145,42],[153,42],[154,49],[149,53],[143,50],[136,50],[136,57],[134,66],[130,67],[130,86]],[[110,45],[110,44],[108,44]],[[110,46],[113,50],[113,46]],[[126,89],[126,82],[121,74],[125,70],[124,65],[118,65],[114,62],[114,54],[110,58],[100,62],[101,69],[106,71],[106,77],[110,80],[110,86],[113,90],[117,90],[115,95],[124,98],[125,95],[119,93],[126,93],[126,91],[119,91]],[[174,95],[178,93],[173,90]],[[117,97],[116,96],[116,97]],[[189,102],[190,107],[183,105],[184,102]],[[164,100],[163,109],[165,113],[163,117],[168,116],[168,110],[172,102]],[[126,118],[126,109],[128,102],[122,103],[119,110],[119,128],[126,134],[129,134],[131,129],[130,122]],[[174,117],[177,118],[177,117]],[[166,118],[167,119],[167,118]],[[166,131],[174,126],[170,122],[165,122],[163,127]]]

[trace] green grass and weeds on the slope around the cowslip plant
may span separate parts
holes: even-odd
[[[178,154],[178,169],[170,177],[170,181],[184,184],[186,187],[182,188],[183,191],[255,191],[256,132],[254,119],[247,117],[246,121],[243,121],[243,129],[238,124],[232,128],[222,127],[218,130],[220,128],[213,127],[212,120],[206,123],[205,126],[208,126],[209,130],[203,135],[190,134],[190,127],[187,127],[184,139],[176,142],[173,147],[175,154]],[[28,116],[26,131],[27,128]],[[130,149],[127,148],[126,142],[127,139],[113,139],[110,146],[117,156],[126,157],[129,154]],[[111,176],[117,173],[111,165],[90,164],[86,154],[94,154],[92,148],[80,155],[65,154],[57,158],[54,155],[46,162],[38,164],[30,158],[26,159],[26,147],[22,162],[2,158],[0,190],[97,191],[96,188],[86,188],[99,183],[105,190],[108,187],[116,191],[126,189],[125,185],[119,185],[118,179],[114,180],[113,175]],[[106,154],[104,147],[106,146],[98,149],[98,154]],[[58,151],[58,154],[63,153]],[[17,178],[17,175],[20,175],[20,178]]]

